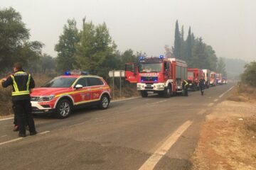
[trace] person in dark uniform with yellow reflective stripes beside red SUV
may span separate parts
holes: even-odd
[[[35,87],[35,81],[31,74],[24,72],[20,63],[14,64],[14,73],[7,79],[1,79],[1,85],[6,88],[12,86],[12,101],[16,110],[18,120],[18,136],[26,137],[25,120],[28,122],[30,135],[36,135],[36,128],[31,115],[31,98],[30,90]]]

